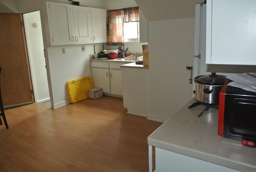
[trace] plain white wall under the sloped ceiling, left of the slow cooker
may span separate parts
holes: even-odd
[[[192,98],[194,18],[148,22],[149,116],[164,122]]]

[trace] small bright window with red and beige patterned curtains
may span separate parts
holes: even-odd
[[[124,40],[139,41],[139,21],[138,7],[108,10],[107,45],[124,46]]]

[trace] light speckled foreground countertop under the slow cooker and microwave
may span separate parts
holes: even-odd
[[[200,105],[188,109],[194,98],[148,136],[148,144],[240,171],[256,171],[256,148],[218,132],[218,110]]]

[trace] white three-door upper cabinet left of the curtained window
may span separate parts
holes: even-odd
[[[106,10],[42,2],[47,46],[107,42]]]

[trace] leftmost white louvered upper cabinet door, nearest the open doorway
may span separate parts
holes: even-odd
[[[74,16],[73,8],[70,4],[61,4],[55,2],[46,3],[50,14],[50,42],[55,45],[70,45],[75,44],[74,36]]]

